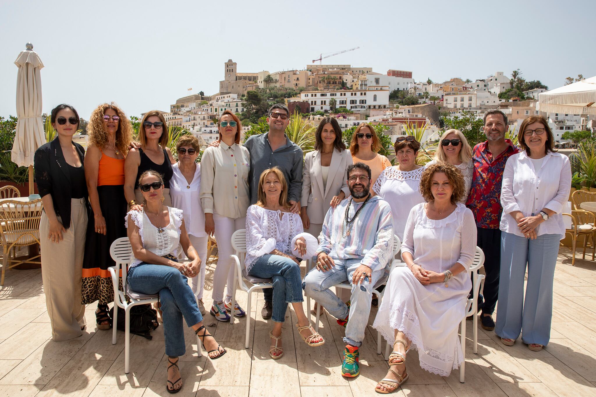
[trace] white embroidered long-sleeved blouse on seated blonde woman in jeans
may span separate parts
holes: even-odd
[[[294,251],[294,244],[299,237],[304,237],[306,241],[305,255]],[[251,205],[246,212],[246,271],[250,271],[259,257],[274,249],[306,259],[316,254],[318,245],[315,237],[304,233],[298,214],[266,210],[260,205]]]

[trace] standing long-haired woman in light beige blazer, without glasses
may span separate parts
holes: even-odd
[[[352,155],[342,140],[342,129],[334,117],[323,117],[315,132],[315,151],[306,154],[302,171],[302,225],[318,237],[330,207],[350,195],[346,170]]]

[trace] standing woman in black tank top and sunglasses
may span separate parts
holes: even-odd
[[[139,178],[148,170],[154,170],[163,177],[163,205],[172,206],[170,198],[170,179],[172,164],[176,161],[167,145],[166,119],[159,110],[145,114],[139,126],[141,148],[132,148],[124,163],[124,195],[129,208],[141,211],[143,195],[139,189]]]

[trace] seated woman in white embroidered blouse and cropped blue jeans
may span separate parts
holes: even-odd
[[[246,214],[246,271],[251,276],[273,279],[273,314],[275,325],[269,355],[274,360],[284,355],[281,326],[285,309],[291,303],[298,318],[298,331],[309,346],[321,346],[325,340],[309,324],[302,309],[300,258],[315,255],[315,237],[304,233],[300,215],[290,212],[288,187],[280,168],[263,171],[259,178],[257,204]],[[298,257],[298,258],[297,258]]]

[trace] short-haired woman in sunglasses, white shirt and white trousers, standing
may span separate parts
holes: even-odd
[[[172,165],[174,174],[170,180],[170,196],[172,205],[184,211],[187,219],[187,232],[190,242],[197,249],[201,259],[201,270],[192,279],[192,288],[197,297],[198,309],[205,314],[203,304],[203,286],[205,284],[205,268],[207,266],[207,233],[205,232],[205,215],[199,197],[201,187],[201,165],[197,164],[198,139],[194,135],[182,135],[176,143],[178,162]],[[182,252],[178,252],[181,258]]]

